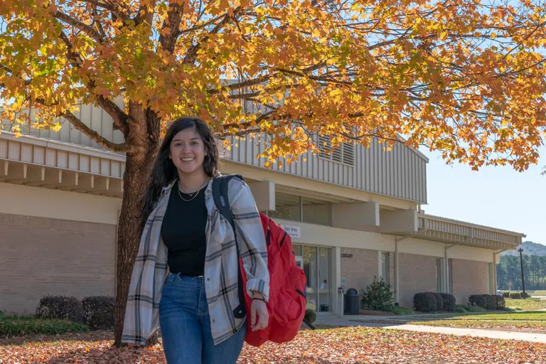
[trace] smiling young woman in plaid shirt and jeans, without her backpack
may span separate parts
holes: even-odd
[[[267,248],[250,188],[229,183],[237,234],[212,196],[218,148],[200,119],[176,119],[149,177],[142,233],[132,273],[122,342],[141,345],[161,326],[168,364],[235,363],[245,317],[235,315],[237,247],[253,298],[252,330],[267,327]],[[236,237],[236,241],[235,241]]]

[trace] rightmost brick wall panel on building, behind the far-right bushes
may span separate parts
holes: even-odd
[[[488,292],[488,263],[453,259],[453,295],[457,304],[467,304],[471,294]]]

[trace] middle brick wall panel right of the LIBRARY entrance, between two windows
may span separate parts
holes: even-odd
[[[400,306],[413,307],[413,296],[418,292],[436,291],[436,257],[398,253],[400,262]]]

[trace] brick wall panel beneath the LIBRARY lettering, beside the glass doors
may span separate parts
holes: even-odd
[[[353,257],[343,257],[352,254]],[[341,248],[341,277],[347,278],[347,286],[355,288],[360,294],[368,284],[373,282],[373,276],[378,275],[379,260],[377,250]]]

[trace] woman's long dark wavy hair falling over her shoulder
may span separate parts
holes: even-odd
[[[173,164],[173,161],[168,158],[171,150],[171,141],[176,134],[190,128],[198,132],[203,140],[203,144],[205,144],[205,150],[207,151],[205,159],[203,160],[205,173],[207,173],[209,177],[214,177],[218,174],[218,146],[216,145],[213,133],[210,132],[208,125],[197,117],[180,117],[176,119],[167,129],[163,143],[161,143],[156,160],[154,161],[154,167],[151,169],[148,177],[146,191],[144,191],[144,196],[141,200],[142,226],[146,224],[148,216],[151,211],[154,210],[161,189],[178,179],[176,166]]]

